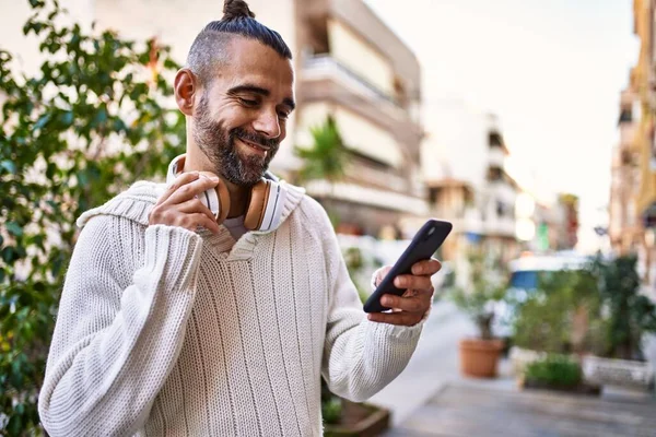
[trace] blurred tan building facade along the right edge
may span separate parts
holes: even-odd
[[[639,256],[645,290],[656,297],[656,1],[634,0],[633,19],[640,52],[621,95],[608,232],[613,251]]]

